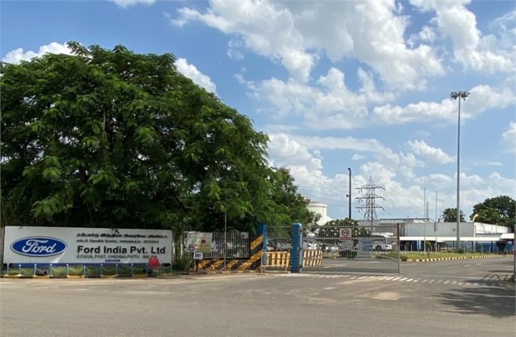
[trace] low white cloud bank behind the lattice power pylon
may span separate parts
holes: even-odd
[[[323,173],[323,160],[314,155],[314,150],[359,148],[359,151],[373,153],[376,160],[366,162],[358,168],[352,167],[352,186],[358,187],[367,183],[369,175],[374,182],[385,188],[382,193],[385,201],[381,201],[385,212],[378,211],[378,217],[421,217],[423,204],[423,186],[429,191],[439,191],[438,213],[447,207],[455,207],[455,175],[431,173],[418,176],[411,171],[411,167],[418,167],[412,163],[411,174],[404,168],[410,164],[411,153],[394,153],[385,145],[376,140],[360,140],[355,138],[314,138],[287,135],[281,133],[271,138],[269,144],[272,151],[270,157],[279,166],[290,168],[292,176],[303,195],[313,200],[328,204],[328,210],[333,217],[345,217],[347,214],[347,171],[336,173],[330,177]],[[383,155],[383,153],[387,153]],[[497,195],[513,195],[516,190],[516,180],[503,177],[499,173],[491,173],[487,177],[467,175],[461,173],[461,209],[466,215],[471,213],[474,204],[482,202],[486,197]],[[357,191],[353,191],[354,196]],[[430,208],[433,210],[433,199]],[[353,206],[357,206],[355,200]],[[361,217],[362,213],[353,210],[354,217]],[[433,215],[433,211],[430,212]]]

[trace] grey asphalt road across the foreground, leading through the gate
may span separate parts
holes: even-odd
[[[484,277],[510,273],[510,260],[468,261],[407,264],[402,276],[2,279],[0,329],[2,336],[515,336],[515,286]]]

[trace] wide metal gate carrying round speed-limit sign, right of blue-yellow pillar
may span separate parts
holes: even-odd
[[[303,271],[399,273],[401,226],[304,228]]]

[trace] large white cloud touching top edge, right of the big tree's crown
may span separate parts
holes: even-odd
[[[443,74],[428,45],[407,47],[407,18],[389,1],[210,1],[205,12],[180,8],[174,25],[201,21],[239,36],[249,50],[279,60],[305,83],[325,54],[331,61],[354,56],[391,87],[421,89],[429,76]],[[322,24],[321,24],[322,23]]]

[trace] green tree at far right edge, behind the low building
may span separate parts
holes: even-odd
[[[516,201],[507,195],[500,195],[494,198],[487,198],[473,206],[473,213],[470,219],[477,215],[475,221],[486,224],[497,224],[502,226],[514,226],[516,213]]]

